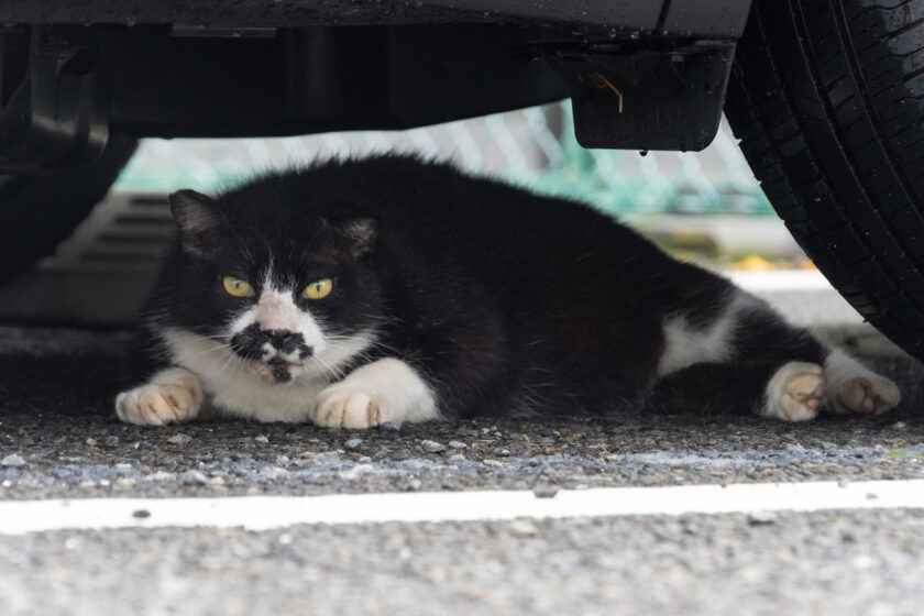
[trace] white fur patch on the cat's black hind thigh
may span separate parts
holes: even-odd
[[[732,354],[732,336],[741,312],[759,310],[763,302],[736,289],[730,301],[712,323],[703,329],[691,328],[684,315],[664,319],[664,349],[658,362],[658,376],[683,370],[701,362],[722,362]]]

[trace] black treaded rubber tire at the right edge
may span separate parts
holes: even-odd
[[[924,360],[924,0],[755,0],[725,111],[822,273]]]

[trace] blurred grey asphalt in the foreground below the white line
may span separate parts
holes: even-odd
[[[916,615],[922,566],[914,509],[58,531],[0,538],[0,613]]]

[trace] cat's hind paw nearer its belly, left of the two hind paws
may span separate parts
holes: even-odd
[[[767,384],[765,415],[783,421],[809,421],[818,415],[826,382],[822,366],[789,362]]]

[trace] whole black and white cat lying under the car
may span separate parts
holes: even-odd
[[[207,405],[345,428],[629,408],[801,421],[899,402],[591,208],[448,165],[330,162],[170,208],[179,240],[144,326],[162,370],[118,396],[124,421]]]

